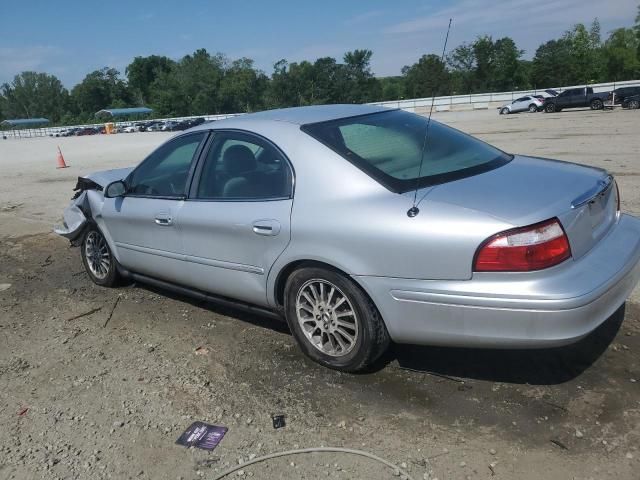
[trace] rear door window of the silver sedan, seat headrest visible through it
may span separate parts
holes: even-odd
[[[291,170],[268,142],[241,132],[223,132],[207,152],[196,198],[255,200],[288,198]]]

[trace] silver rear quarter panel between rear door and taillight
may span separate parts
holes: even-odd
[[[413,192],[392,193],[338,154],[294,132],[286,146],[296,172],[291,242],[269,275],[298,260],[317,260],[350,275],[468,279],[477,246],[511,227],[457,205],[422,201],[407,216]],[[276,139],[274,139],[276,141]],[[427,195],[429,189],[420,191]]]

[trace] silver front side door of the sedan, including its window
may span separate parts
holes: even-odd
[[[207,134],[181,135],[165,143],[127,177],[124,197],[105,198],[104,228],[124,267],[168,281],[185,280],[178,218]]]

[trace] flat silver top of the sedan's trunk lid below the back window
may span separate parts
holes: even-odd
[[[470,208],[524,226],[571,209],[576,198],[605,176],[597,168],[516,155],[502,167],[438,185],[426,201]]]

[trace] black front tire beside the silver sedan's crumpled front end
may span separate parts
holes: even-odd
[[[99,247],[96,246],[96,242],[100,245]],[[92,243],[95,248],[90,246],[89,243]],[[98,255],[95,252],[96,249],[102,253]],[[93,283],[101,287],[115,287],[120,283],[121,278],[118,273],[116,258],[113,256],[113,252],[111,252],[104,235],[96,225],[89,226],[84,233],[82,244],[80,245],[80,255],[82,256],[84,268]],[[96,267],[98,258],[103,260],[103,262],[100,262],[99,268]],[[104,268],[104,274],[97,273],[102,268]]]

